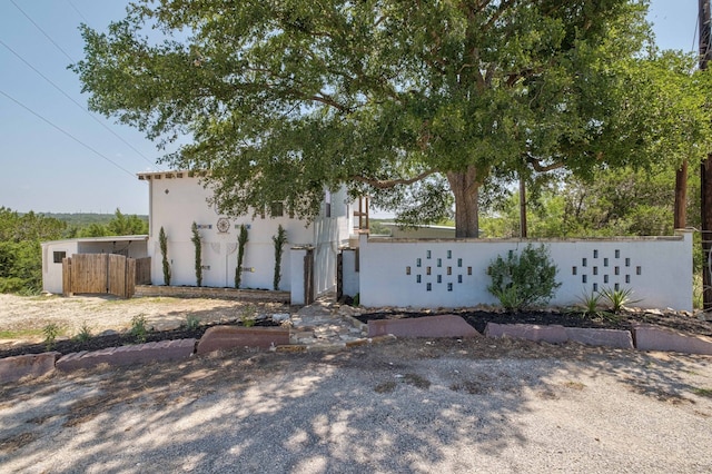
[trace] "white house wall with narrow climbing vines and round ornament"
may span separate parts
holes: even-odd
[[[279,289],[290,290],[291,276],[290,249],[294,246],[314,246],[317,248],[316,270],[318,271],[317,292],[334,288],[336,285],[336,248],[340,241],[340,229],[348,228],[344,216],[348,205],[343,192],[332,195],[332,215],[334,218],[319,218],[313,225],[288,217],[260,218],[243,216],[231,218],[218,215],[209,205],[211,190],[206,189],[196,177],[187,172],[146,174],[150,195],[150,239],[151,280],[154,285],[164,285],[162,256],[158,235],[161,226],[168,238],[168,259],[171,268],[170,284],[174,286],[196,285],[195,245],[191,225],[199,227],[202,246],[202,286],[235,286],[237,267],[237,238],[240,225],[248,226],[248,243],[245,246],[243,278],[240,288],[273,289],[275,268],[275,248],[271,240],[281,225],[287,231],[288,244],[284,247],[281,279]],[[172,176],[172,178],[167,178]],[[157,177],[160,177],[157,179]],[[219,231],[217,221],[228,219],[229,229]],[[348,237],[345,230],[343,239]],[[334,249],[334,250],[332,250]],[[297,276],[298,277],[298,276]]]

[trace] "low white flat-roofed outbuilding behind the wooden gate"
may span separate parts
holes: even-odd
[[[42,243],[42,290],[62,293],[62,264],[55,263],[55,253],[63,251],[67,257],[75,254],[117,254],[131,258],[148,256],[146,237],[88,237]]]

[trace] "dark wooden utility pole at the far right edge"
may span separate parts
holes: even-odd
[[[710,48],[711,24],[710,24],[710,0],[698,0],[700,22],[700,69],[708,68],[708,61],[712,50]],[[702,161],[700,166],[700,198],[702,218],[702,256],[704,259],[702,271],[702,299],[703,310],[712,309],[712,278],[710,275],[710,249],[712,248],[712,154]]]

